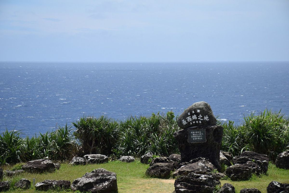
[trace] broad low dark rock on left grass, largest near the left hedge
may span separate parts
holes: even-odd
[[[53,162],[49,159],[36,159],[30,162],[27,162],[22,166],[22,169],[26,172],[53,172],[55,170],[55,166]]]

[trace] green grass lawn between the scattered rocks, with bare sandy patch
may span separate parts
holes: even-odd
[[[86,166],[70,166],[68,164],[61,164],[59,170],[53,173],[44,174],[29,174],[24,173],[20,176],[14,177],[13,182],[22,178],[32,179],[35,178],[36,183],[47,179],[53,180],[69,180],[73,181],[86,172],[91,172],[97,168],[105,168],[111,172],[116,173],[117,186],[119,193],[127,192],[154,192],[154,193],[171,193],[174,190],[174,179],[157,179],[146,177],[145,171],[148,165],[141,164],[139,160],[132,163],[124,163],[119,161],[108,162],[105,164],[91,164]],[[7,168],[4,168],[7,169]],[[4,178],[4,180],[11,180],[11,178]],[[230,181],[221,180],[224,183],[231,183],[236,188],[236,193],[240,192],[242,188],[258,188],[261,192],[266,193],[266,188],[271,181],[279,181],[281,183],[289,183],[289,170],[276,168],[275,165],[270,164],[267,175],[261,178],[253,177],[249,181]],[[8,192],[38,192],[32,187],[29,190],[10,190]],[[49,191],[49,192],[73,192],[73,191]]]

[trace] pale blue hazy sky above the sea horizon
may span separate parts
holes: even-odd
[[[0,0],[0,61],[289,61],[289,1]]]

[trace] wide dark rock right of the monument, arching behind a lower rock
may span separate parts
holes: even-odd
[[[261,172],[266,174],[269,163],[268,155],[256,153],[254,151],[244,151],[240,156],[235,156],[232,159],[234,164],[245,164],[248,161],[252,162],[252,160],[261,167]]]

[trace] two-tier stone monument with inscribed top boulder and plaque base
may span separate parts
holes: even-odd
[[[175,132],[174,137],[178,142],[181,162],[205,157],[221,170],[223,127],[216,123],[210,105],[204,101],[192,104],[178,117],[177,124],[181,130]]]

